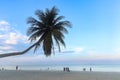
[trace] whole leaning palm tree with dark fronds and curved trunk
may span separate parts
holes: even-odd
[[[38,19],[29,17],[27,21],[30,24],[27,35],[29,40],[35,43],[22,52],[0,54],[0,57],[21,55],[33,47],[35,52],[40,46],[43,48],[46,56],[54,53],[55,45],[57,45],[60,51],[60,45],[65,46],[64,33],[68,33],[66,27],[71,27],[71,24],[67,20],[63,21],[64,16],[58,16],[58,12],[59,10],[56,7],[46,9],[45,11],[37,10],[35,14]]]

